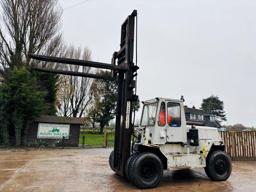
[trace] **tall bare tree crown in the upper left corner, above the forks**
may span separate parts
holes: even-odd
[[[63,53],[63,8],[59,0],[0,0],[0,5],[1,75],[9,74],[14,67],[45,65],[40,61],[30,62],[28,53],[51,56]],[[51,63],[48,65],[53,67]]]

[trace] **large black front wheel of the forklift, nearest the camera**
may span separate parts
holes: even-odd
[[[163,177],[163,163],[154,153],[135,155],[130,166],[132,183],[140,189],[156,187]]]

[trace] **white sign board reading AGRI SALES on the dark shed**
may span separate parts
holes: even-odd
[[[50,123],[39,123],[37,138],[62,138],[63,136],[68,139],[69,135],[69,124],[50,124]]]

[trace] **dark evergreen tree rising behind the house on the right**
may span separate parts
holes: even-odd
[[[218,122],[227,121],[224,111],[224,102],[219,99],[218,95],[214,96],[212,94],[210,97],[203,99],[200,109],[215,116],[215,120]]]

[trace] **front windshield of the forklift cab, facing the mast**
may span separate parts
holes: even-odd
[[[153,126],[155,124],[156,108],[157,102],[144,105],[140,126]]]

